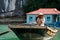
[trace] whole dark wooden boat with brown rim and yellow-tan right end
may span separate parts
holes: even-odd
[[[10,25],[9,24],[9,28],[12,29],[19,38],[22,37],[23,40],[25,39],[36,40],[37,38],[42,40],[43,38],[41,38],[41,36],[45,36],[45,34],[48,34],[49,36],[54,36],[58,31],[57,29],[53,29],[50,27],[38,27],[31,24],[28,24],[28,25],[26,24]]]

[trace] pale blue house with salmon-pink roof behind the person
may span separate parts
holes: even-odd
[[[27,13],[27,23],[28,24],[36,24],[36,17],[40,14],[44,14],[45,24],[46,25],[54,25],[55,22],[60,22],[60,11],[56,8],[40,8],[38,10]]]

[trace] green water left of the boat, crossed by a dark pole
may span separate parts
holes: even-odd
[[[8,25],[0,25],[0,33],[8,31]],[[19,40],[13,31],[0,35],[0,40]]]

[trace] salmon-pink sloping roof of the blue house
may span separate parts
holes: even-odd
[[[58,11],[56,8],[40,8],[38,10],[29,12],[27,14],[40,14],[40,13],[43,13],[43,14],[58,14],[58,13],[60,13],[60,11]]]

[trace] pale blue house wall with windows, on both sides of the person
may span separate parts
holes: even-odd
[[[27,23],[28,24],[31,24],[31,23],[36,24],[35,19],[37,16],[38,16],[37,14],[27,14]],[[45,16],[45,24],[54,24],[54,22],[56,22],[56,21],[54,21],[53,15],[49,14],[49,15],[44,15],[44,16]],[[30,17],[32,17],[32,18],[30,18]]]

